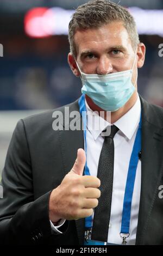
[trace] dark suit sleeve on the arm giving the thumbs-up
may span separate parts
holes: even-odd
[[[42,243],[51,236],[48,214],[51,191],[34,200],[32,166],[23,120],[18,122],[12,135],[1,185],[0,244],[30,245]]]

